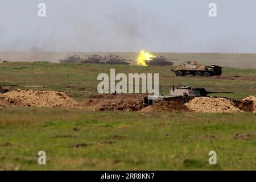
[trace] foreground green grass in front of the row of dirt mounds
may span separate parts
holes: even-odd
[[[0,145],[13,144],[0,147],[0,169],[256,169],[256,115],[251,113],[44,108],[7,108],[0,113]],[[251,138],[234,139],[237,133]],[[75,144],[88,146],[71,148]],[[46,166],[37,163],[40,150],[47,153]],[[211,150],[217,152],[216,166],[208,164]]]

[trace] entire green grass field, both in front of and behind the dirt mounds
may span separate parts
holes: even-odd
[[[97,75],[110,68],[116,73],[159,73],[164,94],[172,86],[171,67],[47,62],[0,64],[0,85],[60,90],[80,102],[97,94]],[[223,72],[221,78],[175,77],[175,84],[234,92],[222,94],[226,97],[256,95],[255,69],[225,67]],[[256,169],[253,113],[8,107],[0,109],[0,116],[0,169]],[[47,153],[46,166],[38,165],[40,150]],[[217,165],[208,164],[211,150],[217,152]]]

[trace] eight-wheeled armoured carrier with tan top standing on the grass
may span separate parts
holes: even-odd
[[[181,64],[176,69],[172,69],[176,76],[214,76],[221,75],[222,67],[217,65],[197,64],[196,61],[186,61],[187,64]]]

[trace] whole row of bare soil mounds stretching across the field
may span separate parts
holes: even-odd
[[[121,110],[151,112],[188,112],[199,113],[256,113],[256,96],[241,100],[222,97],[196,97],[192,100],[162,101],[144,107],[143,94],[100,94],[89,96],[80,104],[63,92],[39,90],[12,90],[0,94],[0,107],[37,106],[37,107],[84,107],[88,110]],[[75,130],[75,129],[74,129]]]

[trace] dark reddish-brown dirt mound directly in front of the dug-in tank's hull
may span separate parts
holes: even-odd
[[[180,103],[177,101],[161,101],[154,105],[144,107],[143,109],[140,110],[140,112],[143,112],[143,113],[150,113],[154,111],[181,112],[181,111],[189,111],[189,109],[183,103]]]

